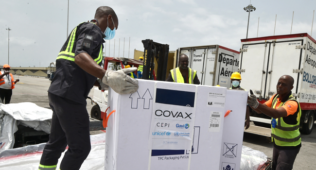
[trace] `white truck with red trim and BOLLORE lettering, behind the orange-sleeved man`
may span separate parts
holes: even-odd
[[[292,94],[302,110],[300,131],[310,134],[316,116],[315,39],[307,33],[242,39],[240,52],[241,86],[251,89],[261,103],[276,94],[282,75],[294,78]],[[254,111],[250,113],[250,120],[255,125],[271,123],[270,117]],[[269,136],[270,132],[267,133]]]

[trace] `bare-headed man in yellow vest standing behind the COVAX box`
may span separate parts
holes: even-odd
[[[186,54],[182,54],[179,57],[178,62],[179,67],[170,70],[167,82],[176,82],[176,83],[188,83],[199,85],[200,81],[197,78],[196,70],[188,68],[189,57]]]

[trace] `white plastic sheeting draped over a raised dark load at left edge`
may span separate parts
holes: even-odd
[[[52,115],[51,109],[32,102],[0,103],[0,152],[13,148],[13,134],[18,131],[19,124],[50,134]]]

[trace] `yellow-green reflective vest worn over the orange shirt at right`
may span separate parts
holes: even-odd
[[[276,108],[277,105],[277,97],[279,95],[275,95],[274,99],[272,101],[272,108]],[[295,101],[298,103],[298,101],[295,100],[295,98],[291,95],[287,99],[287,101]],[[286,101],[286,102],[287,102]],[[279,105],[279,108],[284,105],[285,102],[281,102]],[[272,141],[278,146],[298,146],[301,142],[300,133],[299,133],[299,119],[301,116],[301,110],[298,103],[298,117],[297,117],[297,124],[290,125],[286,124],[283,121],[283,118],[277,118],[277,125],[275,128],[271,126],[271,137]],[[272,118],[273,119],[273,118]]]

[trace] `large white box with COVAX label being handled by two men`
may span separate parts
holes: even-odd
[[[105,170],[223,170],[226,92],[225,87],[145,80],[133,94],[110,89],[109,110],[116,112],[106,128]],[[246,105],[246,97],[240,101]],[[246,106],[240,110],[244,119]],[[160,136],[153,136],[155,132]]]

